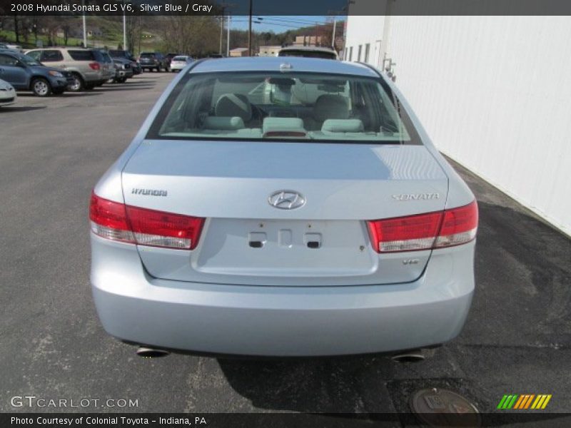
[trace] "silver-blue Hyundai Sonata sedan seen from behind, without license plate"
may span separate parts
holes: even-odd
[[[313,58],[197,61],[91,195],[91,283],[128,342],[238,355],[438,345],[477,205],[393,83]]]

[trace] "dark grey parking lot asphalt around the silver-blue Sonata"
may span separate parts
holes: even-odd
[[[145,360],[108,336],[89,285],[89,195],[172,77],[0,108],[1,412],[400,412],[424,387],[482,412],[503,394],[552,394],[550,412],[571,412],[571,240],[458,165],[480,204],[477,290],[462,334],[422,362]],[[24,395],[138,407],[11,406]]]

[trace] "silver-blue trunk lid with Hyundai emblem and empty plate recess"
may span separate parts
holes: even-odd
[[[148,140],[123,191],[127,205],[206,218],[195,250],[138,246],[155,277],[364,285],[413,281],[430,257],[376,253],[365,220],[443,210],[448,178],[423,146]],[[290,195],[304,203],[272,205]]]

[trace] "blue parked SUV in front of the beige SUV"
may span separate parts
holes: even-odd
[[[73,82],[67,71],[42,66],[29,56],[6,49],[0,49],[0,78],[16,91],[32,91],[37,96],[63,93]]]

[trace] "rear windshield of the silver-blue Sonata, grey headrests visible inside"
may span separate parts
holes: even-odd
[[[380,78],[322,73],[188,73],[148,138],[419,144]]]

